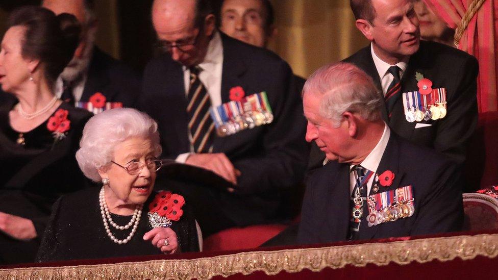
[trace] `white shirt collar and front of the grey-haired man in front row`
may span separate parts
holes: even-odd
[[[387,142],[389,141],[389,137],[391,136],[391,130],[389,129],[389,126],[385,124],[384,126],[384,132],[382,133],[382,137],[377,142],[377,145],[370,151],[370,154],[366,156],[366,158],[361,162],[361,166],[364,168],[374,172],[372,176],[370,176],[370,179],[368,179],[368,182],[366,183],[367,187],[367,194],[370,193],[370,189],[372,188],[372,183],[374,183],[375,179],[375,173],[377,172],[377,168],[379,167],[379,164],[382,159],[382,155],[384,155],[384,151],[386,150],[387,147]],[[354,165],[350,166],[350,170],[354,167]],[[356,177],[355,177],[355,172],[350,172],[350,194],[353,193],[353,189],[355,188],[356,185]]]

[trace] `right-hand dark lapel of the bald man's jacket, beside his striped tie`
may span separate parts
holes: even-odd
[[[244,73],[247,70],[244,57],[238,52],[234,39],[219,32],[223,45],[223,66],[221,73],[221,103],[230,101],[230,89],[240,86],[243,89],[247,88],[247,83],[244,80]],[[246,92],[247,94],[247,92]],[[213,143],[213,152],[222,150],[223,142],[226,137],[215,137]]]

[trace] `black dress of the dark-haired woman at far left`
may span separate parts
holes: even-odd
[[[54,144],[47,121],[23,133],[24,145],[17,143],[19,132],[10,126],[9,111],[17,103],[5,98],[0,105],[0,212],[33,221],[38,237],[18,241],[0,232],[0,265],[33,262],[52,205],[64,193],[84,188],[88,180],[74,155],[91,113],[65,103],[70,128],[65,138]],[[56,111],[57,111],[56,110]]]

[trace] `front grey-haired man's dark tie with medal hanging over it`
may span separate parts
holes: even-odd
[[[353,167],[352,171],[355,173],[356,185],[353,189],[353,193],[351,194],[351,220],[350,220],[350,239],[357,240],[358,232],[360,230],[360,222],[363,217],[367,215],[367,213],[363,213],[355,218],[355,215],[358,215],[360,211],[364,210],[364,203],[366,203],[366,195],[367,195],[367,182],[370,179],[371,171],[367,170],[361,165],[357,165]],[[356,201],[355,201],[356,200]],[[356,211],[356,214],[355,214]]]

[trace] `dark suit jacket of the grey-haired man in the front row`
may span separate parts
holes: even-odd
[[[463,206],[456,164],[426,147],[419,147],[391,131],[377,173],[395,174],[379,192],[412,186],[415,212],[408,218],[367,226],[364,203],[359,239],[436,234],[461,230]],[[371,194],[371,192],[370,192]],[[350,165],[329,162],[309,178],[298,232],[300,243],[347,240],[350,232]],[[366,214],[365,214],[366,213]]]

